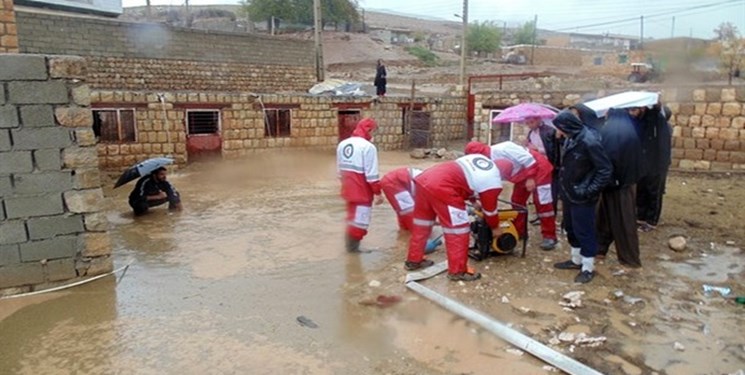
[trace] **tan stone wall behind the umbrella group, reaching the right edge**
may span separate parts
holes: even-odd
[[[635,88],[637,90],[641,88]],[[661,91],[663,103],[672,110],[673,168],[699,170],[745,169],[745,87],[706,88],[649,87]],[[537,102],[564,108],[599,92],[491,92],[476,96],[474,137],[486,141],[489,113],[521,102]],[[527,134],[525,126],[513,125],[513,140]],[[492,138],[496,131],[492,128]]]

